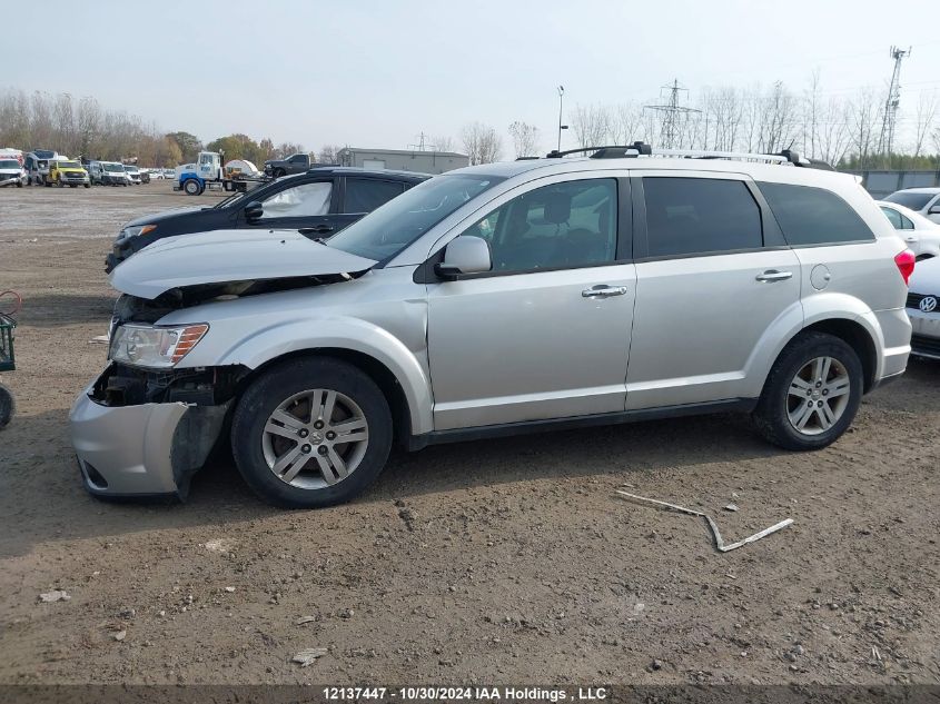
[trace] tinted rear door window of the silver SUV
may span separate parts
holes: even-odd
[[[685,257],[763,247],[761,211],[743,181],[645,177],[650,257]]]

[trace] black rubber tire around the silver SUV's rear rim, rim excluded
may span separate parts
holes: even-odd
[[[831,427],[814,429],[810,435],[800,432],[790,419],[791,408],[789,404],[796,401],[796,397],[790,394],[791,383],[796,374],[804,369],[813,359],[830,357],[844,369],[849,379],[848,400]],[[834,365],[833,365],[834,366]],[[849,428],[859,404],[862,399],[863,369],[858,354],[844,340],[825,333],[803,333],[790,341],[768,375],[763,393],[758,401],[758,407],[752,414],[758,432],[769,442],[791,450],[821,449],[834,443]],[[810,379],[812,381],[812,379]],[[817,384],[812,384],[813,387]],[[810,396],[818,389],[808,388],[808,404],[822,403],[813,401],[815,396]],[[833,397],[835,394],[833,394]],[[831,399],[830,399],[831,400]],[[841,401],[838,401],[841,403]],[[802,400],[795,403],[792,413],[802,408]],[[812,408],[812,406],[810,406]],[[822,412],[819,412],[820,414]],[[821,416],[814,420],[821,426]]]

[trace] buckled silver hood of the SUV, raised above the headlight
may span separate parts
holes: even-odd
[[[296,230],[215,230],[158,240],[118,265],[109,279],[123,294],[154,299],[192,286],[354,275],[375,265]]]

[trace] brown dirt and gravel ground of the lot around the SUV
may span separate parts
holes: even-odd
[[[267,507],[230,460],[187,504],[90,498],[67,413],[105,360],[109,238],[214,198],[0,190],[0,289],[26,299],[2,379],[0,683],[940,682],[940,365],[912,361],[814,454],[715,416],[399,454],[328,510]],[[726,538],[795,523],[721,555],[623,485]],[[328,653],[291,664],[307,647]]]

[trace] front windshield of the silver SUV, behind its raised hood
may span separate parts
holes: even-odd
[[[445,175],[415,186],[373,210],[326,244],[359,257],[394,257],[462,205],[504,180],[498,176]]]

